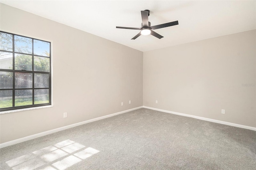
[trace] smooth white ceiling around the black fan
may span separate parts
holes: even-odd
[[[256,1],[88,1],[1,0],[1,3],[121,43],[140,51],[194,42],[256,29]],[[164,36],[140,36],[141,10],[150,10],[151,25],[178,20],[179,25],[155,30]]]

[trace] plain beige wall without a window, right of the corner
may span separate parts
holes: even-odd
[[[144,52],[144,106],[256,127],[255,83],[256,30]]]

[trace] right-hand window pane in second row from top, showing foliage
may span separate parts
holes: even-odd
[[[50,71],[50,58],[34,57],[34,71]]]

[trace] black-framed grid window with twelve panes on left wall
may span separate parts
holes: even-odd
[[[51,43],[0,31],[0,111],[51,105]]]

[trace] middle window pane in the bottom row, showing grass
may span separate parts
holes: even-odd
[[[15,90],[15,106],[32,105],[32,90]]]

